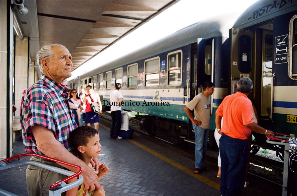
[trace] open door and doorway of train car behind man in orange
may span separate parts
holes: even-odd
[[[248,29],[230,29],[231,46],[231,94],[237,90],[237,82],[241,77],[249,77],[253,81],[253,90],[249,99],[256,108],[258,124],[270,129],[272,110],[272,68],[273,68],[273,28],[272,21],[267,21]],[[259,149],[257,143],[266,138],[253,132],[254,151]],[[262,142],[263,144],[263,142]]]

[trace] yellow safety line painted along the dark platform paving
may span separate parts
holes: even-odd
[[[101,127],[109,130],[108,127],[104,126],[103,124],[99,124]],[[190,170],[180,164],[178,164],[177,162],[174,162],[173,160],[167,158],[166,156],[163,156],[161,154],[159,154],[158,152],[146,147],[146,146],[143,146],[142,144],[138,143],[138,142],[135,142],[134,140],[132,139],[128,139],[129,142],[143,148],[144,150],[148,151],[149,153],[153,154],[154,156],[157,156],[159,157],[160,159],[162,159],[163,161],[166,161],[167,163],[171,164],[172,166],[186,172],[187,174],[193,176],[194,178],[197,178],[199,179],[200,181],[206,183],[207,185],[213,187],[214,189],[217,189],[217,190],[220,190],[220,184],[217,184],[216,182],[212,181],[212,180],[209,180],[208,178],[202,176],[202,175],[198,175],[198,174],[194,174],[193,170]]]

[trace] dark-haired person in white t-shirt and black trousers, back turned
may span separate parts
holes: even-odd
[[[112,91],[109,95],[109,104],[110,104],[110,111],[111,111],[111,126],[110,126],[110,137],[113,139],[122,139],[122,137],[118,136],[118,132],[120,131],[121,124],[122,124],[122,102],[123,102],[123,95],[119,91],[121,88],[120,83],[115,84],[115,90]]]

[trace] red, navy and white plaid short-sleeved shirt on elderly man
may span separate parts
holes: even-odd
[[[68,104],[68,89],[45,75],[27,89],[20,109],[23,143],[27,153],[43,155],[36,147],[30,127],[38,124],[53,131],[55,138],[68,150],[68,134],[77,127]]]

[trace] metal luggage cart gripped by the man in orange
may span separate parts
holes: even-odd
[[[282,133],[274,133],[275,138],[267,136],[267,143],[274,145],[284,145],[284,172],[283,172],[283,190],[282,196],[288,195],[288,174],[289,174],[289,152],[297,150],[296,144],[292,142],[293,138]],[[275,140],[275,141],[272,141]],[[295,138],[294,138],[295,140]]]

